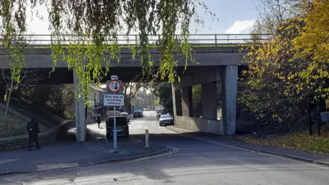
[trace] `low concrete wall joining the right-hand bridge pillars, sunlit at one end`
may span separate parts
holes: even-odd
[[[224,134],[223,121],[191,118],[186,116],[175,116],[175,127],[196,132],[208,132],[213,134]]]

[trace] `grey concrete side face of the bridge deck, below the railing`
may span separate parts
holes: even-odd
[[[243,57],[247,56],[248,50],[239,52],[241,47],[193,47],[193,60],[196,62],[188,62],[188,66],[221,66],[230,64],[242,64]],[[6,61],[5,53],[8,51],[0,49],[0,61]],[[25,49],[25,64],[28,68],[52,68],[53,57],[51,56],[51,49],[31,48]],[[154,61],[154,66],[160,66],[160,54],[157,49],[151,49],[151,60]],[[110,60],[110,54],[104,53],[105,58]],[[121,49],[120,62],[111,60],[110,66],[127,67],[127,66],[141,66],[139,61],[140,56],[136,55],[136,60],[132,58],[130,49]],[[175,55],[175,60],[178,61],[178,66],[185,66],[185,57],[180,54]],[[198,62],[198,63],[197,63]],[[103,66],[106,66],[105,64]],[[59,56],[56,67],[67,68],[66,61]],[[9,68],[6,62],[0,62],[1,68]]]

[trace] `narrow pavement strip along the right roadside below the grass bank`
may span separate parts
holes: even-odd
[[[284,156],[287,158],[293,158],[297,160],[303,160],[305,162],[312,162],[314,164],[321,164],[329,167],[329,155],[324,153],[313,153],[310,151],[300,151],[295,149],[287,149],[280,147],[271,147],[266,145],[254,145],[251,143],[246,143],[243,140],[232,137],[223,137],[217,134],[209,134],[205,132],[193,132],[191,130],[185,130],[175,126],[167,126],[167,129],[174,132],[184,134],[186,136],[191,136],[193,138],[198,138],[200,140],[209,140],[212,142],[220,142],[226,145],[232,145],[235,147],[241,147],[245,149],[251,149],[253,151],[270,153],[278,156]]]

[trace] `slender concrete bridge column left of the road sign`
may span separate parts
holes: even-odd
[[[84,99],[80,97],[77,99],[77,84],[79,79],[73,72],[73,83],[74,83],[74,111],[75,111],[75,128],[77,143],[84,142],[86,140],[86,109],[84,108]]]

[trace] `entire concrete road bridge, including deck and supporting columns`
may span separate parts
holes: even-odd
[[[216,36],[215,36],[216,37]],[[215,40],[215,42],[217,42]],[[48,78],[49,71],[53,66],[51,50],[47,48],[25,49],[25,63],[27,68],[38,69],[38,73],[44,77],[43,84],[77,84],[77,77],[72,71],[68,71],[66,61],[60,58],[57,62],[55,73]],[[159,66],[160,53],[151,49],[151,58],[154,66]],[[188,61],[188,67],[184,71],[184,56],[175,55],[178,62],[178,74],[181,82],[172,84],[173,107],[175,125],[189,130],[211,132],[215,134],[235,134],[236,127],[236,91],[239,68],[245,65],[243,58],[247,56],[247,50],[241,51],[241,46],[227,45],[195,45],[193,47],[193,58],[197,63]],[[104,53],[109,58],[109,53]],[[137,82],[141,78],[141,63],[136,56],[133,60],[130,49],[121,48],[121,62],[110,63],[110,73],[104,82],[110,79],[110,75],[118,75],[123,82]],[[5,51],[0,50],[0,61],[5,61]],[[104,65],[105,67],[105,65]],[[0,68],[9,66],[0,62]],[[183,73],[184,71],[184,73]],[[217,86],[221,82],[221,94],[223,108],[222,118],[217,120]],[[202,84],[202,119],[193,118],[192,86]],[[75,108],[83,104],[82,99],[75,101]],[[77,140],[84,141],[86,135],[86,120],[84,108],[75,112]],[[78,126],[79,125],[79,126]]]

